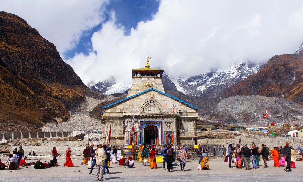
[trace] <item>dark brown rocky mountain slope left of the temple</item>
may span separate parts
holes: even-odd
[[[37,130],[68,119],[94,95],[56,47],[24,19],[0,12],[0,130]]]

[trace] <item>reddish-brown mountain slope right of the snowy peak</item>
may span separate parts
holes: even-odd
[[[258,73],[224,89],[220,96],[260,95],[278,97],[303,104],[303,56],[273,56]]]

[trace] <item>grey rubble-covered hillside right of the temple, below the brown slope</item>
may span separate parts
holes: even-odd
[[[265,96],[231,96],[228,98],[190,97],[179,91],[166,93],[197,106],[200,120],[231,125],[267,125],[275,122],[302,123],[295,116],[303,116],[303,106],[290,100]],[[268,118],[262,119],[268,108]],[[245,120],[248,116],[249,120]]]

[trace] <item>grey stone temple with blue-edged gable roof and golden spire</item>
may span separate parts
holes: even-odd
[[[125,99],[104,106],[104,134],[113,144],[195,144],[198,108],[165,93],[164,70],[132,69],[133,84]],[[115,142],[113,142],[113,140]]]

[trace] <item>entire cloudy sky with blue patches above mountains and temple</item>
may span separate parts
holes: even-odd
[[[0,11],[25,19],[82,81],[161,67],[195,75],[249,60],[294,53],[303,42],[301,0],[1,0]]]

